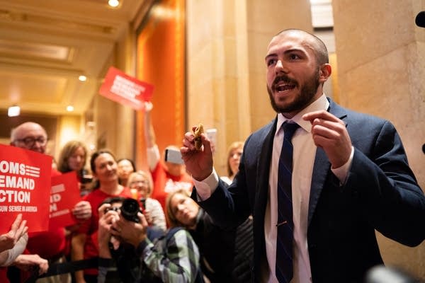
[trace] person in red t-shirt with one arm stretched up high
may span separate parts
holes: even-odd
[[[193,180],[191,175],[186,173],[186,166],[184,166],[183,161],[161,161],[161,154],[159,154],[159,148],[155,139],[155,132],[150,114],[153,107],[154,106],[151,102],[145,102],[145,142],[147,163],[149,164],[149,171],[151,172],[152,179],[154,180],[154,189],[152,190],[151,197],[159,201],[165,212],[166,196],[170,192],[174,192],[174,190],[178,189],[185,189],[188,192],[191,192]],[[171,151],[174,150],[180,154],[180,148],[178,146],[170,145],[166,146],[166,149],[171,149]]]

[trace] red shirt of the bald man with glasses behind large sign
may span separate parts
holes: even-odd
[[[61,175],[61,173],[52,168],[51,175],[53,177]],[[46,260],[62,255],[66,246],[64,227],[49,228],[45,232],[28,233],[26,249],[29,253],[40,255]]]

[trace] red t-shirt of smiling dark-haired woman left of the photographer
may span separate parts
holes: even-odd
[[[108,195],[99,189],[90,192],[86,195],[83,200],[90,202],[91,204],[91,218],[84,221],[79,227],[77,233],[84,233],[87,235],[86,243],[84,245],[84,259],[96,258],[99,255],[98,242],[97,242],[97,231],[98,231],[98,206],[106,200],[108,197],[131,197],[130,189],[124,187],[124,190],[119,195]],[[88,275],[97,275],[96,269],[84,270],[84,273]]]

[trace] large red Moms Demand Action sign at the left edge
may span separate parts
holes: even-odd
[[[52,157],[0,144],[0,234],[18,214],[28,232],[47,231]]]

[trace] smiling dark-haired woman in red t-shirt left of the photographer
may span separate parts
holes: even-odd
[[[103,200],[108,197],[131,197],[128,187],[118,183],[118,166],[115,157],[108,150],[96,151],[90,158],[91,172],[96,178],[95,187],[84,200],[91,204],[91,207],[98,207]],[[72,236],[72,260],[83,260],[96,258],[98,256],[98,210],[93,209],[91,218],[79,226],[79,229]],[[77,283],[96,283],[97,269],[86,269],[75,272]]]

